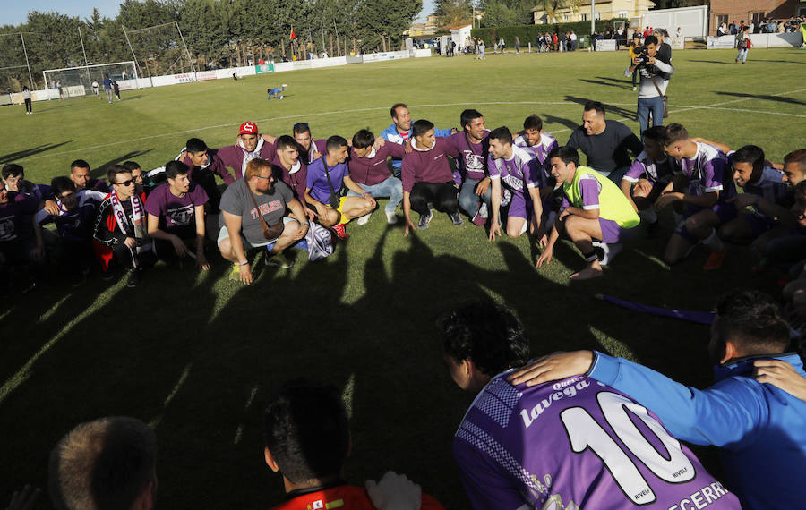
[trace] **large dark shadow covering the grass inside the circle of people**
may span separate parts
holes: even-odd
[[[28,332],[27,347],[2,347],[13,353],[0,363],[4,378],[48,339],[58,341],[0,400],[4,432],[17,438],[0,449],[0,475],[11,486],[44,486],[47,453],[66,430],[126,414],[157,430],[165,507],[232,506],[231,487],[238,507],[265,507],[283,491],[262,462],[262,404],[272,388],[304,376],[344,388],[353,438],[347,480],[361,485],[394,469],[445,506],[467,507],[450,443],[473,395],[443,365],[435,323],[444,313],[479,299],[502,302],[523,322],[534,356],[596,348],[644,360],[668,347],[656,333],[668,327],[664,319],[636,320],[592,298],[603,288],[625,299],[646,293],[622,277],[649,274],[646,258],[627,252],[603,278],[563,285],[535,270],[523,240],[497,242],[490,256],[501,259],[480,267],[464,258],[469,246],[445,251],[436,229],[403,242],[399,225],[379,234],[361,262],[351,260],[362,249],[351,239],[329,259],[310,263],[299,251],[296,268],[259,268],[249,286],[227,281],[229,264],[211,254],[210,273],[195,283],[192,271],[160,265],[135,289],[96,281],[26,298],[0,327],[3,338],[19,337],[13,325]],[[584,265],[566,242],[555,256],[550,268]],[[38,315],[43,323],[31,326]],[[681,344],[707,339],[692,326],[679,331]],[[682,361],[682,370],[703,369]]]

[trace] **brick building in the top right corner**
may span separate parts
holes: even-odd
[[[725,21],[739,23],[744,20],[759,26],[761,20],[785,20],[792,16],[806,14],[806,2],[803,0],[711,0],[711,13],[708,22],[708,34],[716,36],[716,29]]]

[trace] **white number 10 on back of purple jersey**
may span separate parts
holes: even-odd
[[[646,407],[609,391],[597,394],[596,400],[604,414],[604,419],[616,436],[621,439],[624,446],[627,446],[630,453],[644,463],[658,478],[669,483],[684,483],[695,477],[694,466],[683,453],[680,442],[670,436],[660,423],[649,416]],[[668,459],[659,454],[656,447],[649,443],[635,423],[630,420],[627,410],[643,421],[660,439],[669,453]],[[656,500],[655,492],[649,487],[647,480],[641,475],[635,463],[587,410],[582,407],[570,407],[560,413],[560,419],[573,451],[581,454],[590,448],[596,456],[602,459],[607,470],[613,475],[613,480],[633,503],[647,505]]]

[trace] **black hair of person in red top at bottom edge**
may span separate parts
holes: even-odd
[[[350,441],[339,390],[304,378],[288,381],[266,404],[263,435],[288,480],[301,483],[338,475]]]

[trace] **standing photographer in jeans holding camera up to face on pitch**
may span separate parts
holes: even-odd
[[[664,124],[664,99],[666,87],[669,85],[669,76],[674,72],[668,57],[657,52],[658,42],[655,36],[647,36],[644,46],[635,49],[636,57],[632,65],[624,70],[624,76],[630,77],[632,72],[638,70],[639,100],[638,119],[641,132],[649,127],[649,113],[652,113],[652,125]],[[671,55],[669,55],[671,56]]]

